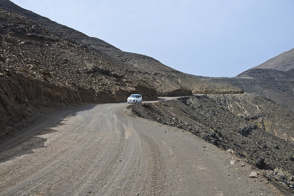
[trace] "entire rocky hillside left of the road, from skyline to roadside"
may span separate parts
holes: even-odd
[[[0,0],[0,5],[0,135],[27,123],[43,107],[122,102],[132,93],[156,100],[192,91],[243,92],[125,53],[11,1]]]

